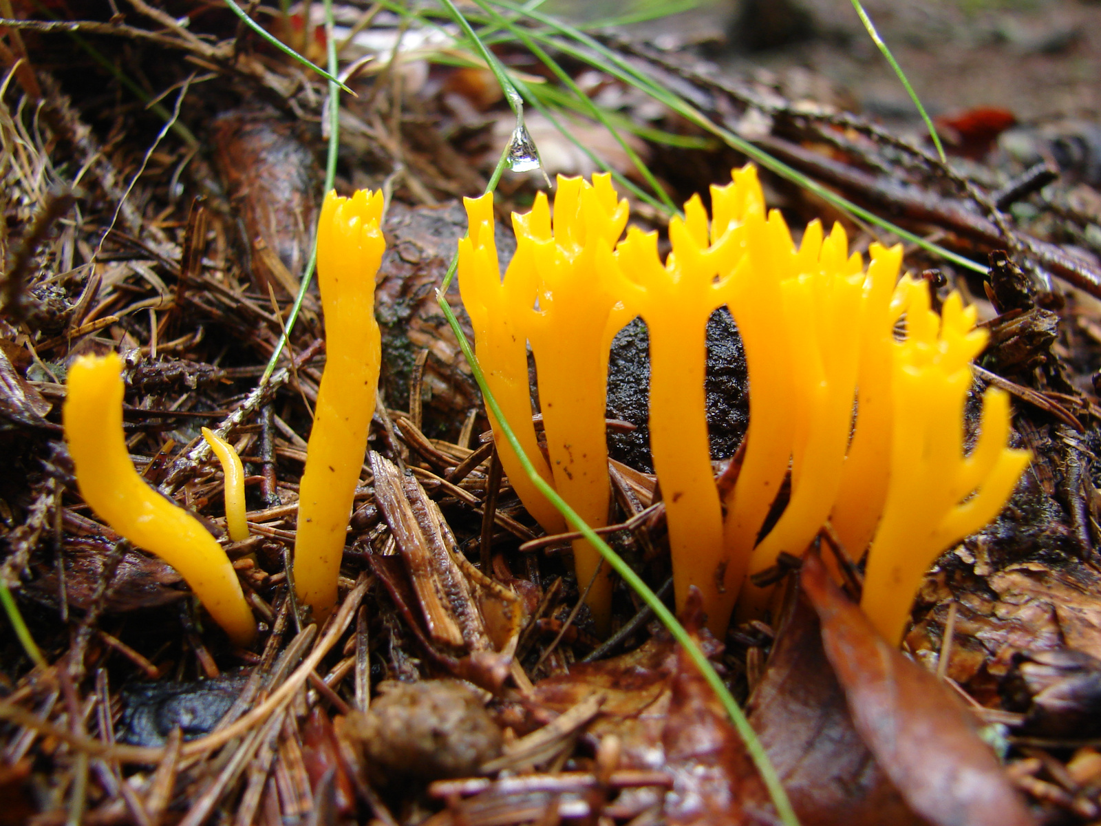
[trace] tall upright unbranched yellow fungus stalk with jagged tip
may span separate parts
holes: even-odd
[[[381,337],[374,274],[382,261],[382,193],[325,196],[317,227],[317,281],[325,314],[325,372],[298,488],[294,585],[324,621],[337,578],[352,498],[367,453],[379,384]]]

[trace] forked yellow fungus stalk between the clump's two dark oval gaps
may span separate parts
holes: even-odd
[[[755,182],[754,182],[755,183]],[[708,626],[726,631],[740,579],[728,580],[722,507],[707,433],[707,319],[726,303],[727,281],[744,248],[735,219],[745,184],[712,187],[720,220],[708,228],[699,197],[669,222],[673,251],[663,265],[656,233],[632,229],[619,246],[623,303],[650,335],[650,448],[661,480],[677,606],[704,594]],[[733,587],[728,587],[733,585]]]

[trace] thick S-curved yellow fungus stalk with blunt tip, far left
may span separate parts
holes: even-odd
[[[229,557],[190,513],[134,470],[122,433],[122,360],[85,356],[69,369],[62,419],[80,496],[138,547],[172,565],[238,645],[257,633]]]

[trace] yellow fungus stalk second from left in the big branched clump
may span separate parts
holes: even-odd
[[[539,193],[526,215],[513,217],[522,283],[534,281],[536,300],[520,316],[535,357],[539,409],[555,490],[588,524],[608,524],[608,351],[631,316],[615,309],[613,248],[626,226],[628,204],[611,175],[558,176],[554,221]],[[530,249],[528,249],[530,248]],[[534,270],[534,279],[531,270]],[[577,584],[591,582],[586,604],[598,633],[611,621],[611,568],[586,540],[574,542]],[[596,579],[593,579],[596,577]]]

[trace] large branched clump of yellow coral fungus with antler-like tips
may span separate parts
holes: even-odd
[[[767,599],[749,576],[782,552],[802,555],[829,520],[852,555],[869,551],[863,606],[897,642],[923,573],[996,515],[1029,459],[1007,447],[1009,401],[995,389],[984,395],[979,442],[964,453],[970,362],[985,333],[958,294],[938,315],[924,282],[900,280],[898,247],[872,244],[865,268],[840,226],[825,236],[817,221],[796,246],[780,213],[765,210],[753,166],[711,187],[711,204],[710,221],[697,196],[669,222],[663,262],[656,233],[631,228],[620,240],[628,207],[609,176],[591,185],[559,177],[553,219],[542,194],[531,213],[513,215],[516,254],[502,278],[491,196],[468,199],[459,285],[489,388],[543,477],[590,524],[607,524],[608,352],[641,316],[678,606],[698,587],[721,634],[740,595],[748,612]],[[737,481],[721,496],[705,369],[707,319],[724,305],[745,349],[750,424]],[[549,461],[532,422],[528,345]],[[560,531],[562,518],[491,424],[516,493],[547,532]],[[787,503],[761,537],[786,478]],[[599,556],[586,542],[574,553],[606,628],[611,584],[595,578]]]

